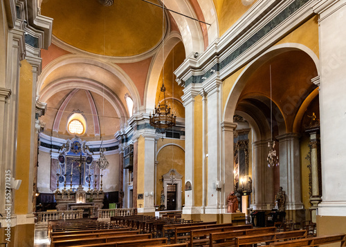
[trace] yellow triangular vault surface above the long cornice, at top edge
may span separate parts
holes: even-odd
[[[219,20],[219,34],[224,34],[233,24],[253,6],[244,6],[240,0],[213,0]],[[257,0],[253,1],[255,3]]]

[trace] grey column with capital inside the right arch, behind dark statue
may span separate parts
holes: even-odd
[[[300,181],[300,134],[277,136],[279,140],[280,186],[286,192],[286,219],[304,219]],[[287,211],[289,210],[289,212]],[[302,214],[302,215],[301,215]]]

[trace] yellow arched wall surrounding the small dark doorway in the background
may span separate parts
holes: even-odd
[[[182,140],[173,140],[173,139],[165,139],[167,143],[175,143],[181,146],[179,143],[184,144]],[[158,142],[161,142],[158,140]],[[162,141],[163,142],[163,141]],[[162,146],[162,145],[161,145]],[[156,205],[160,205],[161,201],[161,190],[163,190],[163,180],[162,175],[166,174],[170,171],[170,169],[174,168],[176,171],[182,175],[182,188],[181,191],[176,191],[176,193],[181,193],[181,205],[185,204],[185,152],[181,148],[175,145],[165,146],[158,152],[157,161],[158,165],[156,166]]]

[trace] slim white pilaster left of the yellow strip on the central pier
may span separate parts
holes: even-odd
[[[192,215],[194,207],[194,97],[199,95],[199,85],[190,83],[181,97],[185,107],[185,183],[190,181],[192,190],[185,190],[183,215]]]

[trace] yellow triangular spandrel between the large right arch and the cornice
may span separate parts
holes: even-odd
[[[302,23],[300,27],[287,34],[286,37],[275,43],[275,45],[282,43],[301,43],[310,48],[319,57],[318,15]]]

